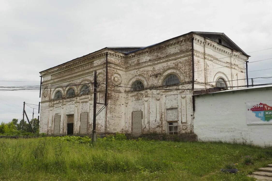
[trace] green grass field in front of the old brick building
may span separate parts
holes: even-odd
[[[0,180],[254,180],[247,174],[272,163],[271,148],[248,145],[65,140],[0,139]],[[229,164],[239,172],[221,173]]]

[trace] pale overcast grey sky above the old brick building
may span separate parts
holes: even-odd
[[[272,48],[271,8],[272,1],[253,0],[0,0],[0,85],[39,85],[40,71],[106,46],[148,46],[190,31],[225,33],[246,53]],[[272,49],[249,55],[249,62],[269,59]],[[271,61],[248,70],[272,68]],[[267,76],[272,69],[249,72]],[[0,122],[22,119],[23,101],[39,100],[39,91],[0,91]],[[33,109],[26,111],[32,118]]]

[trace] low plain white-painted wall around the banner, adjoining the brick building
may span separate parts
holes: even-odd
[[[195,96],[194,133],[198,140],[271,146],[272,125],[246,124],[245,102],[271,100],[272,90],[261,89]]]

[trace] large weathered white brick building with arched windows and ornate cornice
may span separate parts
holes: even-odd
[[[109,99],[96,132],[133,136],[193,133],[192,89],[245,85],[249,58],[224,33],[190,32],[147,47],[103,48],[40,72],[41,133],[91,134],[94,71],[103,92],[106,54]]]

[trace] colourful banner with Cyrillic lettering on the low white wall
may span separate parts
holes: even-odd
[[[246,102],[246,123],[272,124],[272,100]]]

